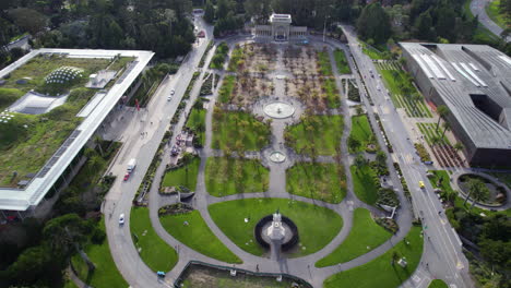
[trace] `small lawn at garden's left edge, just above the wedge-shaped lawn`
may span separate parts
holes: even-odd
[[[194,157],[189,164],[185,165],[183,167],[167,171],[164,176],[162,187],[183,185],[190,189],[191,191],[194,191],[200,164],[201,158]]]

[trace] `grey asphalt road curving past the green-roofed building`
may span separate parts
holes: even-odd
[[[131,287],[171,287],[171,283],[159,280],[139,256],[129,229],[130,211],[134,194],[213,35],[212,27],[206,26],[202,19],[197,21],[197,26],[206,32],[206,37],[200,39],[199,45],[193,46],[179,71],[164,81],[146,108],[141,111],[127,111],[122,115],[126,119],[122,121],[131,121],[128,125],[130,129],[123,132],[121,136],[123,146],[109,169],[109,172],[116,175],[118,179],[106,196],[103,212],[111,255],[119,272]],[[175,95],[168,101],[167,96],[170,89],[175,89]],[[142,135],[145,132],[147,134]],[[124,182],[122,178],[127,163],[131,158],[136,159],[136,168],[131,178]],[[119,225],[120,214],[124,214],[123,226]]]

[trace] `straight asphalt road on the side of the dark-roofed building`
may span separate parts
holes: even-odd
[[[400,164],[411,189],[414,213],[424,218],[425,250],[419,269],[428,271],[435,278],[444,279],[452,288],[474,287],[461,241],[444,216],[442,205],[426,177],[428,168],[418,161],[413,143],[408,140],[411,136],[392,100],[385,95],[383,83],[379,77],[370,77],[369,71],[376,72],[376,67],[359,47],[353,27],[344,26],[343,31],[360,73],[366,75],[364,82],[372,97],[375,104],[372,108],[379,113],[389,141],[392,143],[394,161]],[[368,109],[372,108],[368,107]],[[424,181],[426,189],[420,190],[418,181]]]

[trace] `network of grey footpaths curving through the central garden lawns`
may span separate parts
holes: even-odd
[[[237,38],[237,39],[233,39],[233,40],[230,40],[228,43],[229,47],[230,47],[230,52],[231,52],[231,49],[234,47],[234,44],[239,43],[239,41],[240,41],[240,39]],[[341,47],[342,49],[346,49],[345,46],[342,46],[340,44],[337,46]],[[332,65],[333,65],[333,71],[335,71],[335,79],[336,79],[337,82],[340,82],[340,75],[336,72],[337,69],[336,69],[336,65],[335,65],[335,61],[333,60],[333,53],[332,53],[331,48],[329,48],[329,55],[330,55],[331,62],[332,62]],[[213,56],[213,51],[211,51],[211,53],[209,55],[207,60],[205,62],[206,63],[205,67],[207,67],[207,63],[211,60],[212,56]],[[350,64],[353,65],[353,63],[350,63]],[[201,76],[198,79],[198,82],[197,82],[195,86],[193,87],[193,89],[191,92],[191,100],[188,103],[186,111],[189,111],[189,109],[191,108],[191,105],[193,104],[194,99],[197,98],[197,96],[199,94],[199,89],[200,89],[200,86],[201,86],[203,74],[204,74],[204,71],[202,72]],[[212,136],[213,136],[213,132],[212,132],[213,107],[215,105],[215,100],[216,100],[216,97],[218,95],[218,93],[217,93],[218,87],[221,87],[221,85],[222,85],[222,80],[223,80],[224,75],[225,75],[225,73],[221,73],[221,79],[219,79],[218,84],[216,86],[214,96],[211,98],[211,101],[209,104],[209,109],[206,111],[205,145],[204,145],[204,148],[200,151],[201,164],[200,164],[200,167],[199,167],[198,183],[197,183],[197,187],[195,187],[195,196],[194,196],[194,200],[192,201],[192,205],[194,206],[195,209],[198,209],[201,213],[201,216],[203,217],[203,219],[205,220],[207,226],[211,228],[213,233],[230,251],[233,251],[233,253],[237,254],[243,261],[242,264],[237,264],[236,265],[237,267],[241,267],[241,268],[250,269],[250,271],[255,271],[255,266],[259,265],[260,272],[263,272],[263,273],[264,272],[266,272],[266,273],[287,273],[287,274],[296,275],[296,276],[299,276],[299,277],[304,278],[305,280],[312,284],[314,287],[321,287],[323,280],[326,277],[329,277],[329,276],[331,276],[331,275],[333,275],[335,273],[338,273],[341,271],[349,269],[352,267],[361,265],[364,263],[367,263],[367,262],[378,257],[379,255],[383,254],[389,249],[391,249],[394,243],[401,241],[406,236],[406,233],[408,232],[408,230],[411,228],[412,213],[409,211],[409,207],[408,207],[408,204],[407,204],[406,200],[404,199],[403,192],[401,191],[399,194],[400,194],[400,200],[403,202],[402,207],[400,208],[400,211],[402,213],[400,213],[399,216],[397,216],[397,223],[399,223],[401,229],[399,230],[399,232],[396,235],[394,235],[389,241],[387,241],[385,243],[383,243],[380,247],[376,248],[375,250],[372,250],[372,251],[370,251],[370,252],[368,252],[368,253],[366,253],[366,254],[364,254],[364,255],[361,255],[361,256],[359,256],[359,257],[357,257],[355,260],[352,260],[352,261],[349,261],[347,263],[342,263],[342,264],[338,264],[338,265],[323,267],[323,268],[316,268],[313,266],[313,263],[316,263],[320,259],[329,255],[331,252],[333,252],[345,240],[345,238],[347,237],[347,235],[349,233],[349,230],[352,228],[353,211],[354,211],[355,207],[365,207],[365,208],[371,211],[372,214],[376,214],[376,215],[379,215],[379,216],[382,216],[382,214],[383,214],[381,211],[377,209],[376,207],[367,205],[367,204],[360,202],[355,196],[355,194],[353,192],[353,179],[352,179],[352,176],[350,176],[350,172],[349,172],[349,158],[348,158],[348,155],[346,153],[343,154],[343,165],[344,165],[344,168],[345,168],[345,171],[346,171],[347,195],[343,200],[343,202],[341,202],[340,204],[325,203],[325,202],[322,202],[322,201],[312,200],[312,199],[302,197],[302,196],[293,195],[293,194],[287,193],[286,190],[285,190],[285,187],[286,187],[286,182],[285,182],[285,168],[286,168],[286,165],[285,165],[285,163],[284,164],[273,164],[273,163],[269,163],[269,161],[266,161],[266,163],[269,163],[266,165],[270,166],[269,191],[260,192],[260,193],[235,194],[235,195],[228,195],[228,196],[224,196],[224,197],[211,196],[207,193],[206,188],[205,188],[205,165],[206,165],[207,157],[212,157],[212,156],[218,155],[221,153],[218,151],[214,151],[214,149],[211,148],[211,141],[212,141]],[[278,80],[274,80],[274,81],[278,81]],[[341,83],[337,83],[337,85],[340,87]],[[275,98],[277,97],[276,95],[281,95],[281,94],[283,95],[284,94],[281,91],[281,88],[278,88],[280,86],[283,86],[283,85],[278,85],[278,84],[275,85],[275,96],[274,96]],[[350,121],[348,119],[349,115],[348,115],[348,106],[347,106],[347,103],[346,103],[346,97],[342,97],[342,112],[341,113],[345,116],[345,121],[344,121],[345,127],[344,127],[344,133],[342,135],[342,147],[341,148],[342,148],[342,151],[346,152],[347,151],[346,139],[347,139],[347,136],[349,134],[349,131],[350,131]],[[176,124],[174,135],[179,133],[179,131],[182,129],[182,127],[185,124],[185,121],[186,121],[185,115],[186,115],[186,112],[181,117],[178,124]],[[372,118],[373,117],[371,117],[371,120],[373,120]],[[273,149],[280,149],[280,151],[284,149],[284,147],[282,146],[281,143],[284,143],[284,130],[285,130],[285,127],[288,123],[289,123],[289,119],[287,119],[287,120],[286,119],[281,119],[281,120],[274,119],[273,120],[273,122],[272,122],[272,144],[270,144],[269,147],[271,147]],[[168,145],[168,147],[173,146],[174,141],[175,140],[173,140],[170,142],[170,145]],[[384,147],[384,145],[381,145],[381,146]],[[269,147],[266,147],[266,149]],[[285,149],[285,151],[289,151],[289,149]],[[262,153],[259,153],[259,154],[260,155],[259,155],[258,158],[262,158],[263,157]],[[180,243],[175,238],[173,238],[170,235],[168,235],[166,232],[166,230],[163,228],[162,224],[159,223],[158,215],[157,215],[158,208],[161,206],[165,205],[165,204],[168,204],[168,203],[173,202],[173,200],[170,200],[170,201],[168,200],[168,196],[162,196],[157,192],[157,187],[159,185],[159,181],[161,181],[162,176],[164,175],[164,171],[165,171],[165,165],[168,163],[168,157],[167,157],[168,155],[169,155],[169,149],[167,148],[166,152],[164,153],[164,156],[163,156],[164,161],[162,163],[161,167],[158,167],[158,169],[156,171],[155,180],[154,180],[154,183],[153,183],[153,189],[150,192],[150,215],[151,215],[152,225],[155,228],[158,236],[162,237],[168,244],[176,248],[178,250],[178,252],[179,252],[179,261],[178,261],[177,265],[166,276],[167,283],[170,283],[170,281],[174,281],[175,279],[177,279],[179,274],[182,272],[183,267],[191,260],[198,260],[198,261],[203,261],[203,262],[207,262],[207,263],[212,263],[212,264],[216,264],[216,265],[224,265],[224,266],[230,266],[231,264],[223,263],[221,261],[207,257],[207,256],[202,255],[202,254],[193,251],[192,249],[186,247],[185,243]],[[290,155],[288,155],[288,156],[290,156]],[[330,161],[330,160],[328,160],[328,161]],[[390,164],[390,166],[389,166],[390,169],[389,170],[391,170],[393,176],[396,177],[392,164],[391,163],[389,163],[389,164]],[[397,187],[401,188],[400,184],[397,184]],[[302,256],[302,257],[297,257],[297,259],[281,259],[278,261],[272,261],[270,259],[255,256],[255,255],[252,255],[252,254],[243,251],[242,249],[240,249],[227,236],[225,236],[223,233],[223,231],[213,221],[213,219],[211,218],[211,216],[209,214],[209,211],[207,211],[207,206],[213,204],[213,203],[219,203],[219,202],[229,201],[229,200],[237,200],[237,199],[252,199],[252,197],[293,199],[293,200],[296,200],[296,201],[302,201],[302,202],[311,203],[311,204],[319,205],[319,206],[322,206],[322,207],[328,207],[330,209],[335,211],[336,213],[338,213],[343,217],[344,225],[343,225],[343,228],[340,231],[340,233],[337,233],[337,236],[329,244],[326,244],[324,248],[322,248],[320,251],[318,251],[316,253],[312,253],[312,254],[309,254],[309,255],[306,255],[306,256]]]

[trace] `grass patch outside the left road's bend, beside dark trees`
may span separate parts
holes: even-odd
[[[100,229],[105,230],[105,220],[98,223]],[[100,245],[88,244],[84,249],[88,259],[96,265],[93,273],[88,273],[87,264],[75,254],[71,262],[82,281],[95,288],[128,287],[128,283],[117,269],[116,263],[110,254],[108,240],[105,238]]]

